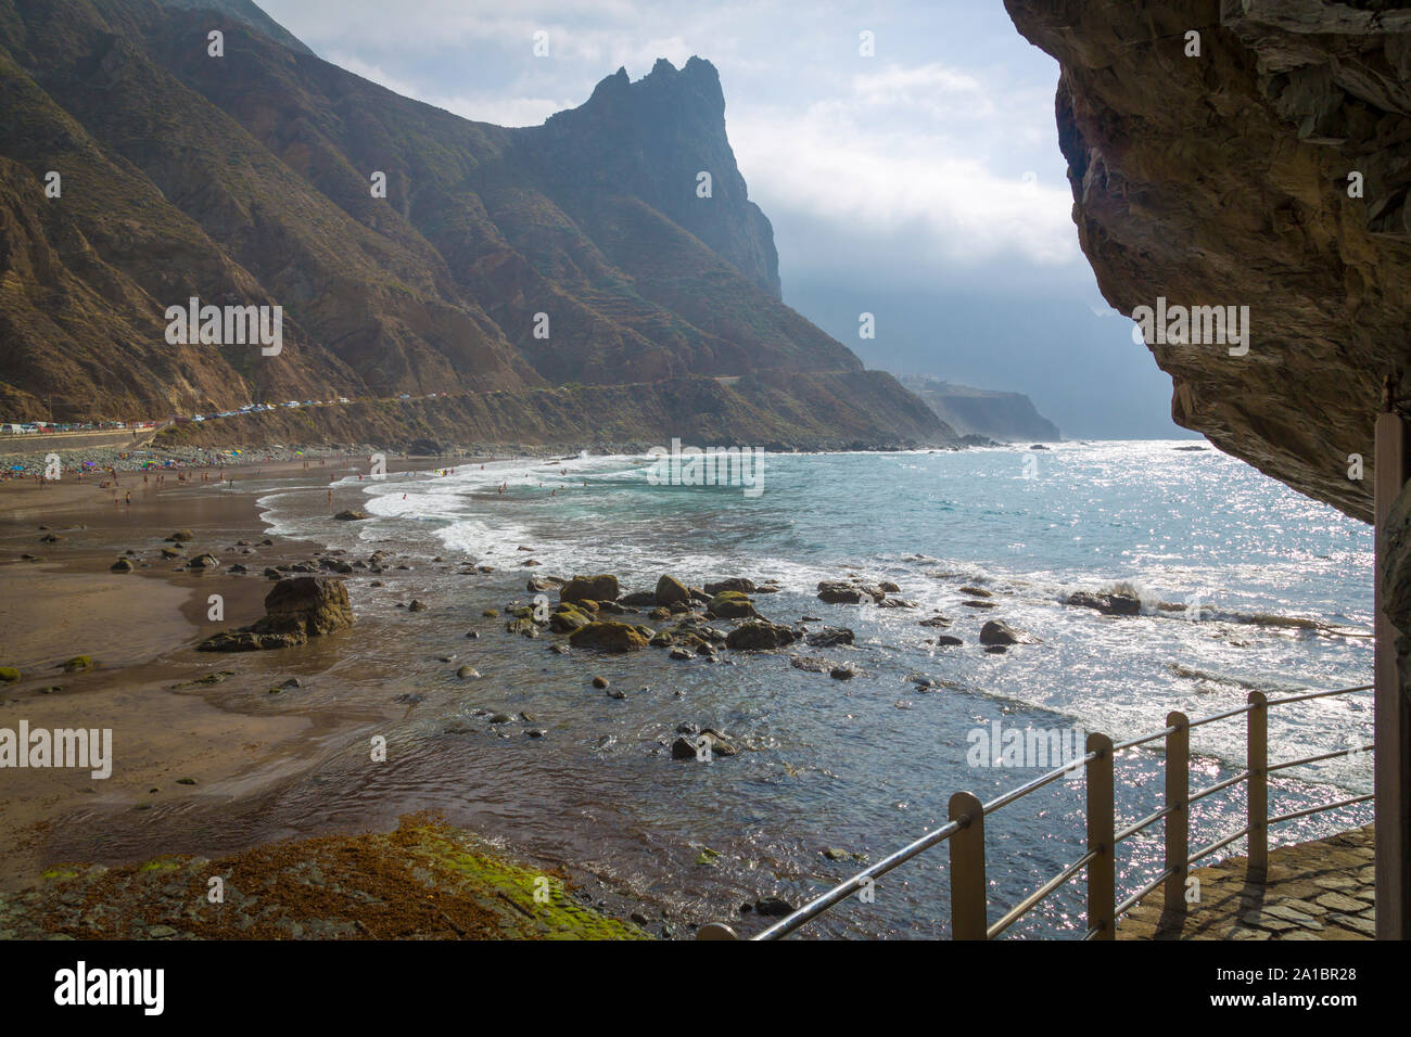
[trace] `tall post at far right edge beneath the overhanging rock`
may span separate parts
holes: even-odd
[[[1388,408],[1390,411],[1390,408]],[[1411,938],[1411,711],[1401,691],[1397,662],[1398,631],[1383,612],[1381,564],[1386,560],[1386,519],[1407,483],[1407,427],[1395,413],[1377,418],[1376,474],[1376,732],[1373,735],[1373,789],[1376,792],[1377,938]]]

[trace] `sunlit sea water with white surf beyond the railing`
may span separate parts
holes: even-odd
[[[405,683],[425,701],[395,732],[391,772],[332,766],[344,792],[336,810],[436,806],[515,845],[574,859],[643,903],[752,930],[761,923],[738,914],[739,903],[766,895],[800,903],[859,868],[861,856],[876,861],[944,824],[951,793],[988,799],[1043,773],[1033,760],[978,765],[976,756],[991,760],[972,751],[976,732],[995,722],[1064,744],[1092,731],[1120,741],[1160,729],[1171,710],[1198,717],[1233,708],[1250,690],[1366,683],[1369,528],[1225,454],[1178,446],[770,454],[758,495],[738,485],[653,484],[642,457],[501,461],[382,481],[349,475],[336,492],[340,507],[374,516],[363,523],[327,521],[322,487],[272,494],[262,504],[277,532],[360,554],[391,549],[412,564],[381,577],[387,587],[377,591],[356,580],[354,605],[360,621],[371,621],[367,652],[405,657]],[[542,564],[525,567],[529,557]],[[457,577],[450,563],[460,559],[495,573]],[[615,573],[625,590],[650,588],[662,573],[691,584],[773,580],[780,593],[756,597],[768,618],[816,617],[813,629],[844,625],[856,635],[851,648],[793,652],[859,673],[840,681],[804,672],[790,666],[790,652],[731,652],[717,662],[673,662],[658,649],[559,656],[546,650],[550,639],[525,641],[480,619],[485,607],[528,604],[529,576],[598,571]],[[896,583],[896,597],[916,608],[817,600],[820,580],[852,574]],[[962,587],[989,591],[995,607],[964,605],[976,598]],[[1143,614],[1065,605],[1078,590],[1129,590]],[[405,617],[395,602],[409,597],[432,602],[425,622],[380,639],[377,624]],[[935,612],[951,625],[920,625]],[[985,653],[976,635],[991,618],[1040,643]],[[481,638],[464,642],[467,626]],[[964,643],[941,648],[937,635]],[[459,662],[485,674],[471,690],[447,687],[446,667],[426,662],[453,642],[467,652]],[[593,690],[598,673],[628,697]],[[546,734],[526,739],[515,728],[505,736],[505,725],[491,729],[477,710],[531,711]],[[1370,741],[1370,720],[1366,696],[1276,710],[1271,758],[1360,745]],[[744,752],[673,760],[666,745],[680,722],[724,729]],[[1243,738],[1240,722],[1201,728],[1194,783],[1239,769]],[[1276,813],[1370,790],[1367,760],[1300,773],[1274,784]],[[1160,775],[1157,752],[1119,762],[1125,821],[1158,806]],[[301,803],[286,808],[296,813]],[[315,804],[310,796],[303,806]],[[1240,827],[1242,811],[1239,794],[1204,801],[1192,845]],[[1366,820],[1369,811],[1355,808],[1274,835],[1297,841]],[[986,831],[993,918],[1081,855],[1082,782],[1047,786],[988,818]],[[830,861],[828,848],[859,856]],[[706,862],[703,849],[718,856]],[[1123,893],[1158,869],[1158,855],[1153,839],[1123,844]],[[840,907],[818,931],[944,935],[945,890],[943,849],[878,883],[875,903]],[[1016,933],[1071,933],[1081,892],[1055,897]]]

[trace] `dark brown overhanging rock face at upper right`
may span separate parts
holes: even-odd
[[[1005,6],[1062,66],[1074,222],[1108,302],[1249,306],[1245,356],[1149,340],[1175,420],[1370,521],[1384,377],[1411,396],[1411,6]]]

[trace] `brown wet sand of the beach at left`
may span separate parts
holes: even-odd
[[[11,851],[0,856],[0,889],[34,882],[75,844],[102,847],[106,863],[174,849],[182,817],[193,844],[250,845],[255,827],[213,832],[210,817],[257,811],[261,797],[306,772],[330,744],[395,715],[339,705],[330,694],[295,705],[286,697],[275,711],[267,700],[278,694],[278,681],[271,684],[264,660],[193,650],[214,631],[264,615],[272,587],[260,576],[265,566],[313,553],[313,545],[296,540],[262,545],[268,538],[257,494],[241,481],[260,473],[306,484],[313,470],[346,473],[354,460],[364,459],[227,468],[233,490],[214,475],[176,483],[172,473],[165,485],[154,475],[144,484],[140,473],[121,473],[107,490],[87,478],[45,488],[0,484],[0,666],[21,672],[18,681],[0,684],[0,728],[17,729],[20,720],[31,729],[109,728],[116,758],[107,779],[93,779],[87,769],[0,770],[0,845]],[[449,461],[392,467],[443,464]],[[268,492],[268,481],[262,485]],[[128,490],[131,505],[111,502]],[[166,538],[178,529],[195,538],[181,559],[164,559],[161,549],[171,547]],[[41,540],[49,535],[59,539]],[[137,569],[109,571],[126,552]],[[203,552],[250,573],[181,569]],[[217,594],[224,615],[212,621],[209,602]],[[351,635],[279,653],[272,669],[308,681],[337,666],[340,643]],[[79,655],[93,669],[65,672],[63,662]],[[168,823],[152,825],[148,814]]]

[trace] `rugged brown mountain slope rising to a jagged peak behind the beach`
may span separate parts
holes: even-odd
[[[0,413],[650,385],[670,425],[707,378],[741,380],[707,394],[720,423],[775,442],[804,444],[804,406],[847,442],[948,442],[782,302],[724,106],[708,62],[662,61],[504,128],[319,59],[248,0],[0,0]],[[282,351],[169,343],[193,296],[281,306]]]

